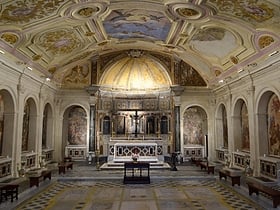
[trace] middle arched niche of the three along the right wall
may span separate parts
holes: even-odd
[[[243,99],[238,99],[233,112],[234,149],[250,152],[248,109]]]

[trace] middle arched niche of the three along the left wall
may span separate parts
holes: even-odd
[[[37,130],[37,107],[33,98],[28,98],[24,104],[22,122],[22,152],[35,151]]]

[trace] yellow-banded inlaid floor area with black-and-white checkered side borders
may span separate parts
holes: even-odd
[[[215,180],[56,181],[20,204],[20,210],[224,210],[261,209]]]

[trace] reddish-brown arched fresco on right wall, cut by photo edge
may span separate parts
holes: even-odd
[[[273,94],[268,103],[269,154],[280,156],[280,101]]]

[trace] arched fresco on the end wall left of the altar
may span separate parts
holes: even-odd
[[[73,107],[68,116],[68,143],[85,145],[87,136],[86,112],[81,107]]]

